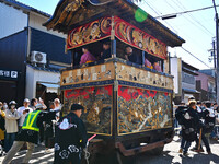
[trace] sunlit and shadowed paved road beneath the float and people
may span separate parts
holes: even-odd
[[[163,154],[159,156],[153,156],[147,153],[143,155],[138,155],[135,157],[135,162],[131,162],[131,164],[219,164],[219,142],[211,141],[210,147],[212,150],[212,154],[210,155],[208,155],[206,152],[198,154],[189,151],[189,155],[185,157],[177,152],[180,148],[180,138],[175,136],[173,142],[164,147]],[[53,149],[50,150],[53,151]],[[12,164],[21,163],[24,155],[25,151],[19,152],[12,161]],[[30,163],[53,164],[53,152],[44,154],[44,147],[37,147]],[[0,157],[0,163],[2,160],[3,157]],[[105,162],[103,162],[103,164]]]

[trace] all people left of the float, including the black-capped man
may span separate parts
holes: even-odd
[[[71,112],[64,117],[60,109],[58,98],[48,107],[41,98],[25,98],[19,108],[15,101],[9,105],[0,102],[0,145],[5,152],[2,164],[11,163],[21,149],[27,149],[22,163],[28,163],[37,144],[45,144],[45,153],[55,148],[54,163],[80,163],[81,150],[88,142],[87,129],[80,119],[83,106],[72,104]]]

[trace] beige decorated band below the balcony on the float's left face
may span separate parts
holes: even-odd
[[[114,79],[114,63],[107,62],[61,73],[61,85],[80,84]]]

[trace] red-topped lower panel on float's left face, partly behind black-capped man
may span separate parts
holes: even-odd
[[[71,104],[80,103],[84,110],[81,115],[88,132],[112,134],[113,86],[96,86],[65,91],[64,112],[68,113]]]

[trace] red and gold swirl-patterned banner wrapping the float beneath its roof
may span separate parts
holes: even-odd
[[[114,31],[112,31],[112,25],[114,26]],[[72,49],[94,43],[110,37],[111,35],[114,35],[114,33],[122,42],[145,50],[155,57],[166,59],[168,49],[164,43],[118,16],[114,16],[114,19],[108,16],[102,17],[71,30],[68,33],[67,48]]]

